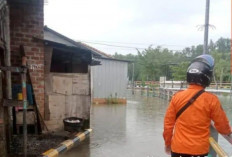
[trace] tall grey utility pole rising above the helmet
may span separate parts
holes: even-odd
[[[209,52],[208,49],[208,37],[209,37],[209,6],[210,0],[206,0],[206,10],[205,10],[205,34],[204,34],[204,51],[203,54]]]

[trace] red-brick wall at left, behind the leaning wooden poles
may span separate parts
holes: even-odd
[[[12,66],[21,65],[19,46],[24,45],[36,102],[44,115],[44,44],[34,38],[43,38],[43,0],[19,2],[10,3]],[[20,78],[13,75],[12,80],[19,83]]]

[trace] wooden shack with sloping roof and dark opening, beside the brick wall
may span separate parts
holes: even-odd
[[[89,128],[92,51],[44,27],[45,123],[63,129],[63,119],[79,117]]]

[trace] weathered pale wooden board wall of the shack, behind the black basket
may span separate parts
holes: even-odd
[[[45,123],[55,131],[63,128],[66,117],[89,121],[91,93],[90,72],[50,72],[52,51],[45,48]]]

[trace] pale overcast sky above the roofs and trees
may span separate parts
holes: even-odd
[[[202,44],[205,0],[48,0],[45,25],[105,53]],[[231,1],[211,0],[209,39],[231,38]],[[101,45],[103,44],[103,45]],[[113,46],[107,46],[113,45]],[[141,49],[140,49],[141,48]]]

